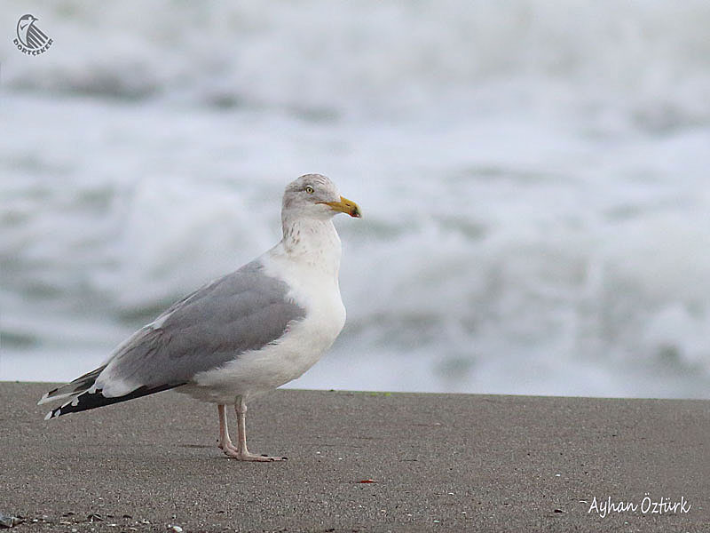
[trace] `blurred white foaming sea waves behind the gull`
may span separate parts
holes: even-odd
[[[93,369],[320,172],[365,219],[292,386],[710,398],[706,0],[5,1],[0,63],[0,379]]]

